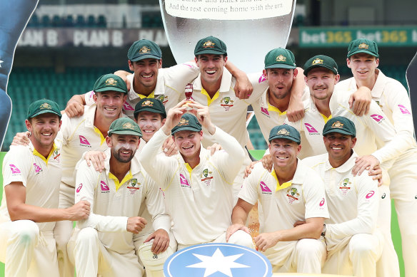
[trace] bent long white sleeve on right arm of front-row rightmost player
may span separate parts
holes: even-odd
[[[355,234],[372,234],[378,218],[379,197],[378,184],[363,172],[354,179],[358,195],[358,215],[356,218],[339,224],[326,224],[326,237],[343,239]]]

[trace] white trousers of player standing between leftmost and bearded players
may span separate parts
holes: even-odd
[[[61,182],[59,187],[59,209],[72,207],[75,201],[75,189]],[[54,238],[56,241],[56,253],[58,254],[58,267],[60,277],[74,277],[74,264],[71,263],[66,251],[66,245],[71,238],[73,223],[69,220],[56,221]]]

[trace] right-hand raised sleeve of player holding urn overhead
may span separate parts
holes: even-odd
[[[245,159],[245,150],[241,147],[236,138],[216,126],[216,132],[213,134],[213,140],[223,147],[223,150],[213,155],[214,166],[218,172],[229,184],[233,184],[243,160]]]

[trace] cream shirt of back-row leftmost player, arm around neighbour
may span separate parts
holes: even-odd
[[[131,89],[123,106],[124,114],[134,119],[135,106],[143,98],[161,100],[168,112],[170,108],[179,102],[179,98],[184,94],[186,84],[194,80],[199,75],[199,72],[200,70],[196,63],[181,63],[170,68],[159,68],[155,90],[148,96],[136,92],[134,90],[134,74],[127,75],[126,78],[130,82]],[[86,94],[86,105],[94,103],[93,95],[94,91]]]

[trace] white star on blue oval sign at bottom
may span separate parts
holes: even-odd
[[[223,256],[220,249],[216,249],[214,251],[213,256],[204,256],[199,254],[193,254],[201,263],[194,263],[186,267],[191,268],[206,268],[204,272],[204,277],[210,276],[217,271],[225,274],[228,277],[233,277],[231,273],[231,268],[248,268],[250,266],[246,266],[241,263],[236,263],[235,261],[240,258],[243,254],[231,255],[231,256]]]

